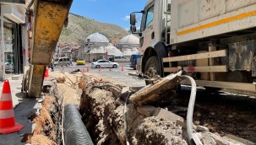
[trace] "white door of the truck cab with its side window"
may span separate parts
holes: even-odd
[[[141,54],[144,54],[144,50],[150,46],[150,42],[155,39],[154,34],[154,3],[150,4],[144,10],[144,18],[141,23],[142,37],[140,41],[142,42],[141,49],[139,50]]]

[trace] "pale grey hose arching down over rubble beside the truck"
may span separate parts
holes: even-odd
[[[197,91],[197,86],[193,78],[189,76],[182,75],[182,78],[188,78],[191,82],[191,94],[190,94],[190,99],[188,103],[188,113],[187,113],[187,132],[188,132],[188,139],[190,144],[193,144],[193,107],[194,107],[194,102],[196,98],[196,91]]]

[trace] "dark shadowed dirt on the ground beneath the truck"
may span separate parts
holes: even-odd
[[[188,107],[190,90],[183,89],[173,100],[169,110]],[[256,142],[256,99],[237,94],[210,94],[198,90],[195,101],[193,121],[200,126],[207,126],[210,132],[221,137],[233,135]],[[173,107],[176,106],[176,107]],[[177,114],[186,117],[187,111]]]

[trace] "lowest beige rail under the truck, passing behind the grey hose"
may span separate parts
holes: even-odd
[[[219,82],[219,81],[204,81],[196,80],[198,86],[214,87],[220,89],[238,89],[245,91],[256,91],[256,84],[253,83],[231,83],[231,82]],[[182,80],[182,84],[191,84],[187,79]]]

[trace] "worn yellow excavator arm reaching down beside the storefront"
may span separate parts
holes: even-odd
[[[23,79],[29,97],[40,97],[46,66],[52,62],[57,41],[73,0],[35,0],[30,68]]]

